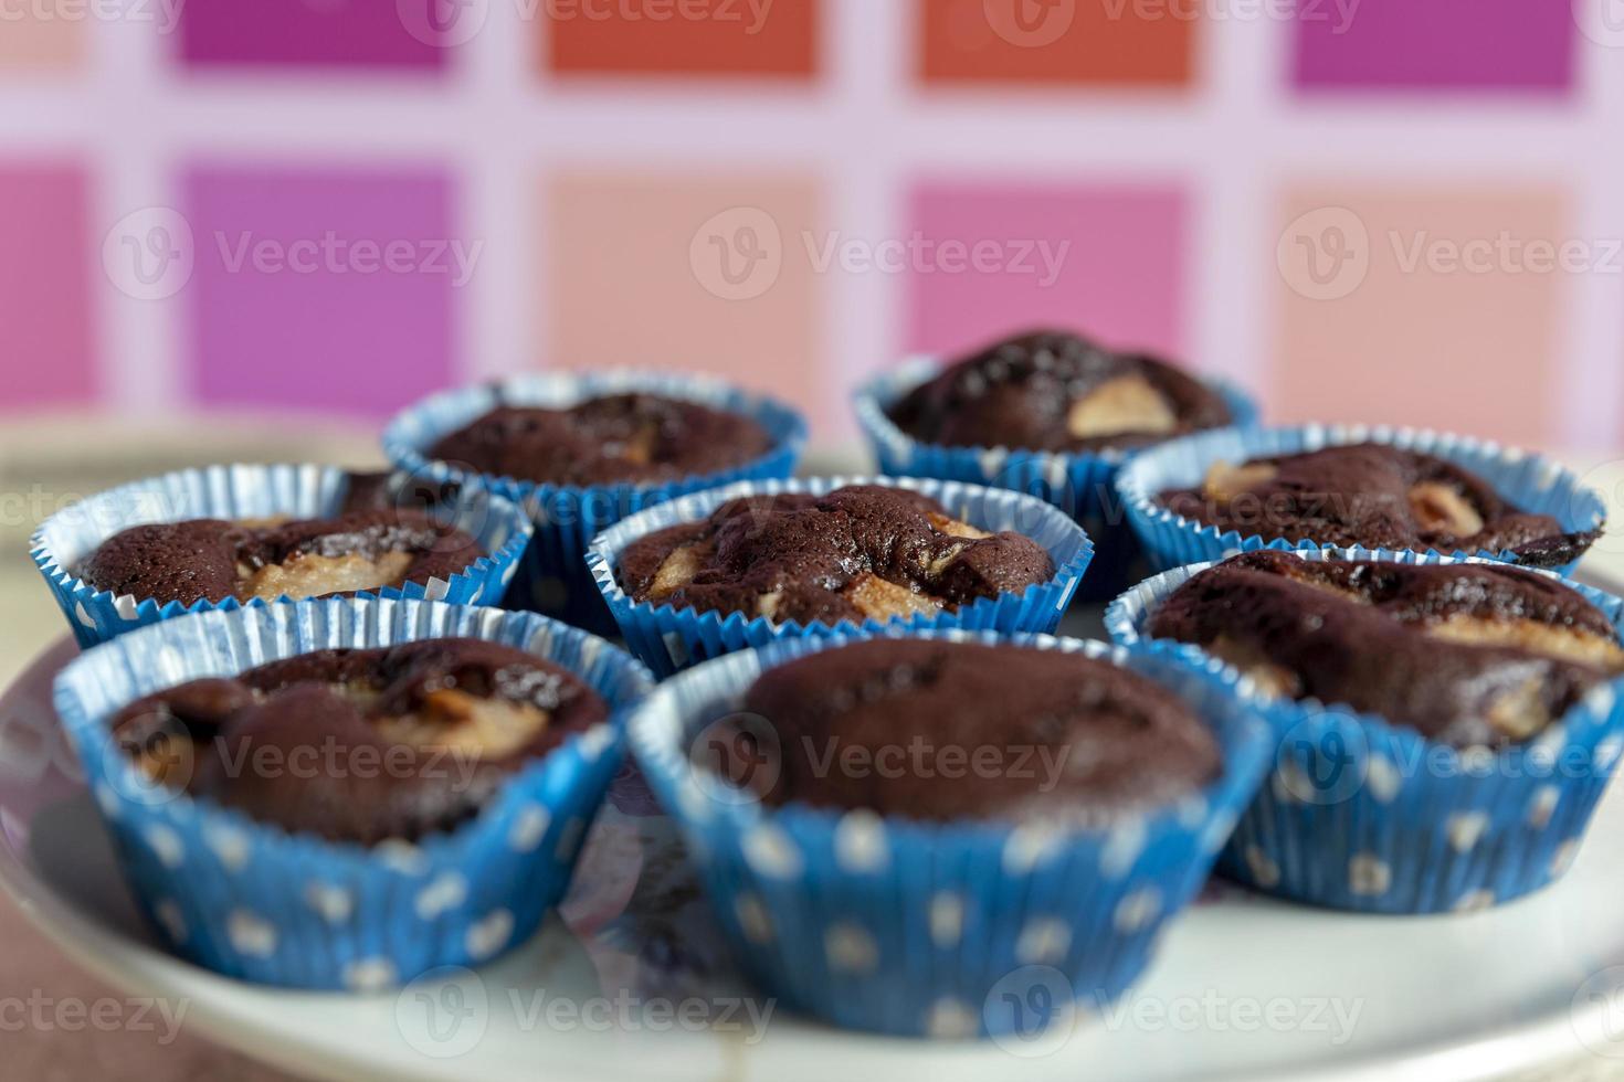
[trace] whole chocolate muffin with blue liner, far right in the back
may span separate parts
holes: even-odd
[[[1606,524],[1600,493],[1559,462],[1415,428],[1221,428],[1140,453],[1116,487],[1163,569],[1358,545],[1566,574]]]

